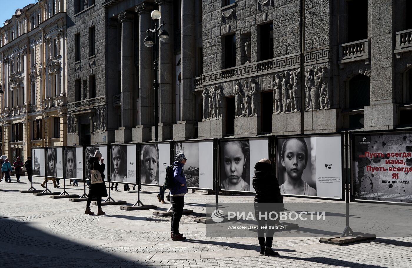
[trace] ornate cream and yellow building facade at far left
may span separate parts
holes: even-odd
[[[2,154],[66,145],[66,2],[17,9],[0,28]]]

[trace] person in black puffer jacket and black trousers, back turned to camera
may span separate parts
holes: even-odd
[[[253,188],[256,191],[255,195],[255,216],[258,220],[258,239],[260,244],[260,254],[265,256],[276,256],[277,252],[272,250],[274,229],[269,226],[274,226],[276,221],[269,218],[259,219],[259,212],[261,215],[269,215],[269,212],[275,211],[278,215],[283,210],[283,196],[279,190],[279,183],[276,176],[272,172],[272,165],[269,159],[262,159],[255,165],[255,175],[252,179]],[[268,204],[272,203],[272,204]],[[278,218],[279,219],[279,218]],[[266,229],[266,241],[265,231]]]

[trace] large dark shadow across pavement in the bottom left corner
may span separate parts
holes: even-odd
[[[1,267],[153,267],[33,228],[27,220],[0,218]]]

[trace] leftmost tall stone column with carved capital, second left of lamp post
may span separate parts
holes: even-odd
[[[122,127],[131,128],[135,125],[133,115],[136,105],[133,99],[133,14],[124,11],[117,19],[122,22]]]

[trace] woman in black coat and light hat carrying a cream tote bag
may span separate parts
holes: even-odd
[[[102,154],[100,151],[96,150],[94,153],[94,157],[91,156],[89,157],[89,160],[87,161],[87,164],[89,165],[89,170],[95,169],[98,170],[102,176],[103,182],[101,183],[93,183],[89,184],[89,197],[87,198],[87,203],[86,203],[86,211],[84,214],[87,215],[94,215],[93,212],[90,210],[90,204],[91,200],[93,200],[93,197],[97,197],[97,215],[105,215],[106,213],[102,211],[102,197],[107,196],[107,190],[106,190],[106,185],[104,183],[105,175],[104,175],[104,170],[105,170],[105,165],[103,163],[104,159],[102,158]],[[101,162],[101,164],[99,163]],[[278,187],[279,188],[279,187]]]

